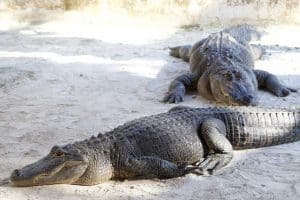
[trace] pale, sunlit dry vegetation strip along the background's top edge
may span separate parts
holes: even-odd
[[[10,10],[24,9],[28,15],[45,18],[39,10],[91,10],[96,15],[150,18],[171,24],[224,24],[247,21],[251,23],[300,22],[298,0],[6,0]],[[36,14],[39,13],[39,14]],[[49,17],[46,17],[47,19]],[[122,18],[122,17],[121,17]],[[237,20],[238,18],[238,20]]]

